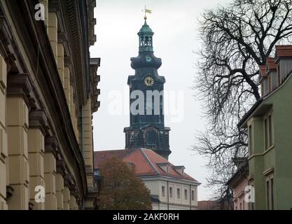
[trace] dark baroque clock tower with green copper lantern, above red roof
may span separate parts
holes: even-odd
[[[125,148],[149,148],[168,159],[169,127],[165,127],[163,85],[158,75],[161,59],[153,54],[153,31],[147,25],[139,30],[139,55],[131,58],[134,76],[129,76],[130,127],[125,127]]]

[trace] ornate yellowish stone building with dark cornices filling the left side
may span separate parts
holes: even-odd
[[[95,0],[0,1],[0,209],[94,209]]]

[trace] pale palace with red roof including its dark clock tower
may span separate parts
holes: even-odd
[[[163,113],[165,77],[158,75],[162,62],[153,55],[153,31],[144,25],[138,32],[139,55],[131,58],[134,76],[129,76],[130,127],[125,127],[125,149],[96,151],[95,171],[109,158],[134,166],[135,175],[151,191],[152,209],[197,209],[200,183],[184,172],[184,166],[168,161],[169,127]]]

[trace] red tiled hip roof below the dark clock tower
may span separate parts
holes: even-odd
[[[95,151],[95,168],[98,168],[102,161],[116,157],[123,159],[124,162],[134,164],[137,176],[169,176],[188,181],[196,181],[191,176],[183,172],[180,174],[174,169],[174,165],[168,160],[158,155],[154,151],[146,148],[124,149],[116,151]],[[158,164],[167,164],[168,172],[165,172]]]

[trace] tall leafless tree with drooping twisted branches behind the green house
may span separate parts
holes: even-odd
[[[246,131],[237,123],[260,99],[258,65],[276,44],[291,41],[291,9],[291,0],[232,0],[202,14],[195,90],[209,125],[193,149],[209,158],[208,183],[218,196],[234,173],[231,159],[247,155]]]

